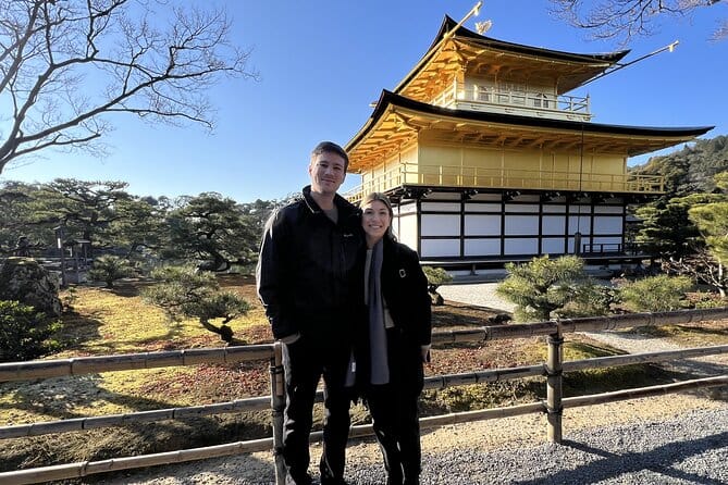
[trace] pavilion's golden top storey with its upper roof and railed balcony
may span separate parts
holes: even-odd
[[[457,109],[589,121],[588,98],[565,94],[627,53],[580,54],[505,42],[445,17],[425,55],[394,92]]]

